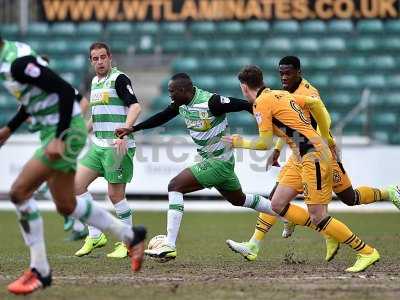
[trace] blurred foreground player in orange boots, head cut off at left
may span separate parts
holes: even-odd
[[[131,247],[132,266],[140,267],[146,230],[132,228],[105,209],[87,200],[76,200],[74,179],[76,159],[85,145],[87,130],[71,85],[47,67],[24,43],[0,37],[0,83],[21,104],[17,114],[0,129],[0,145],[28,117],[40,130],[41,147],[24,165],[10,190],[21,233],[30,249],[30,268],[8,285],[14,294],[29,294],[51,284],[43,234],[43,220],[32,195],[45,181],[57,210],[110,230]]]

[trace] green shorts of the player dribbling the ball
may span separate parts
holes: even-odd
[[[233,192],[241,189],[235,174],[235,159],[229,161],[207,158],[190,167],[197,181],[206,188]]]

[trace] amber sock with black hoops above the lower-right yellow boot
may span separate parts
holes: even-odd
[[[317,230],[328,234],[340,243],[349,245],[358,253],[371,254],[374,251],[374,248],[363,242],[345,224],[330,216],[318,224]]]

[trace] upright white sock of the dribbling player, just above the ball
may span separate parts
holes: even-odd
[[[175,248],[183,216],[183,194],[168,192],[168,202],[167,244]]]

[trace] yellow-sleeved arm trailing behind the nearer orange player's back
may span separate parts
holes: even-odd
[[[296,95],[295,98],[296,101],[302,101],[308,107],[313,118],[317,122],[321,136],[328,142],[328,145],[334,145],[335,141],[333,140],[329,131],[331,126],[331,118],[321,99],[303,95]]]

